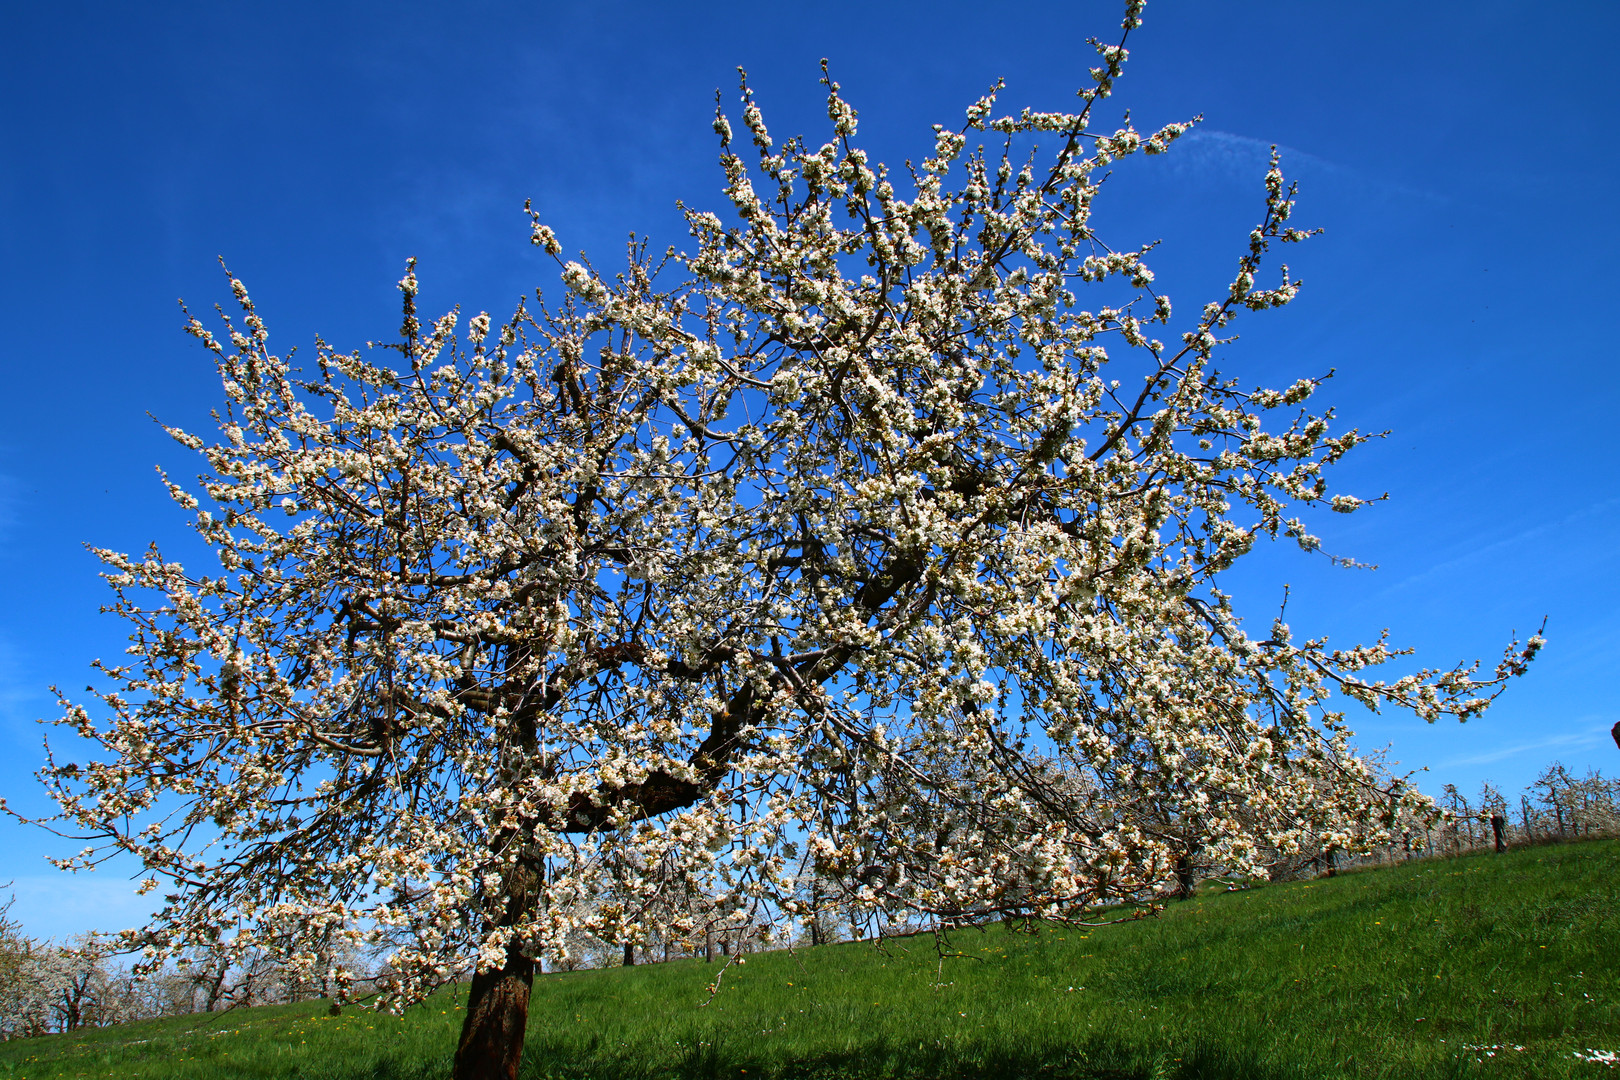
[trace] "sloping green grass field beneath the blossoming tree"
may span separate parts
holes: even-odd
[[[959,931],[536,980],[536,1080],[1599,1077],[1620,1051],[1620,842],[1209,892],[1094,931]],[[0,1080],[428,1080],[454,994],[318,1002],[0,1044]]]

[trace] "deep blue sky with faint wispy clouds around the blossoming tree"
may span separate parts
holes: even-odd
[[[1620,285],[1614,199],[1620,6],[1153,0],[1115,99],[1139,128],[1204,113],[1168,159],[1105,193],[1116,244],[1165,241],[1158,285],[1196,311],[1230,279],[1270,144],[1299,180],[1306,282],[1241,325],[1223,366],[1390,429],[1333,476],[1388,502],[1324,523],[1338,570],[1278,547],[1234,578],[1296,633],[1390,627],[1418,659],[1547,649],[1482,719],[1358,716],[1424,789],[1516,790],[1554,758],[1620,771]],[[206,431],[219,389],[175,300],[228,300],[224,256],[272,345],[387,337],[407,256],[426,309],[501,314],[554,282],[533,198],[604,267],[635,230],[684,240],[718,207],[714,89],[747,66],[779,134],[823,134],[821,57],[875,157],[922,157],[996,76],[1003,104],[1064,108],[1111,0],[1066,3],[279,3],[6,8],[0,68],[0,795],[31,772],[52,683],[113,656],[84,542],[178,542],[154,474],[191,471],[147,413]],[[735,115],[737,110],[732,108]],[[120,874],[60,879],[65,842],[0,821],[0,882],[37,934],[139,916]]]

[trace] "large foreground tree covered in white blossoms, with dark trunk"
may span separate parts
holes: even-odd
[[[386,1002],[476,955],[455,1075],[514,1077],[536,957],[625,910],[679,931],[671,873],[784,902],[808,844],[868,912],[1069,916],[1189,847],[1259,868],[1277,823],[1421,805],[1345,753],[1330,696],[1474,716],[1541,638],[1372,682],[1382,638],[1243,627],[1220,575],[1259,539],[1317,551],[1293,508],[1362,507],[1324,470],[1369,436],[1306,408],[1319,377],[1217,366],[1299,288],[1270,269],[1309,235],[1275,159],[1191,319],[1102,235],[1110,167],[1189,125],[1098,126],[1126,50],[1097,50],[1079,112],[1000,115],[998,84],[894,172],[831,79],[821,146],[778,144],[744,84],[755,160],[716,113],[727,217],[687,210],[690,254],[633,243],[604,277],[535,219],[561,303],[458,334],[411,264],[390,363],[318,342],[296,371],[232,280],[240,322],[190,322],[220,434],[170,429],[219,565],[99,551],[131,644],[94,711],[63,698],[99,753],[40,774],[162,887],[144,962],[309,970],[408,929]],[[617,913],[614,866],[659,868]]]

